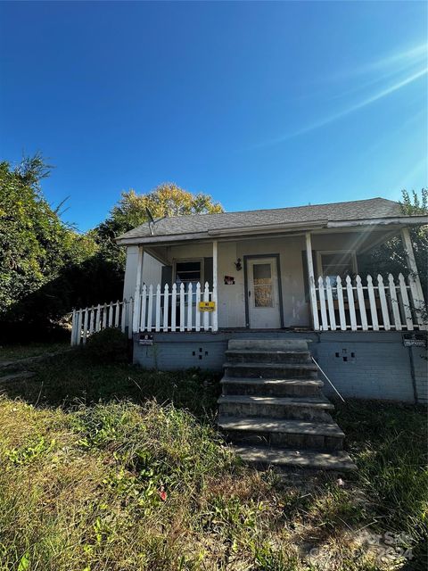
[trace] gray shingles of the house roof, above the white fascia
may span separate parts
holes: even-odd
[[[403,215],[399,203],[385,198],[371,198],[347,203],[314,204],[309,206],[292,206],[290,208],[276,208],[259,211],[221,212],[217,214],[193,214],[188,216],[175,216],[161,219],[152,227],[146,222],[126,234],[119,236],[118,242],[127,244],[136,242],[154,242],[157,237],[201,234],[212,236],[216,232],[221,235],[227,231],[239,231],[247,228],[260,233],[267,227],[304,226],[319,223],[326,226],[332,222],[346,222],[352,220],[397,219],[408,218]],[[417,217],[420,218],[420,217]],[[328,224],[330,226],[330,224]],[[164,240],[162,240],[164,241]]]

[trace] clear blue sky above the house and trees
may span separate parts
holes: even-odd
[[[226,210],[427,186],[427,4],[0,3],[0,157],[85,230],[130,187]]]

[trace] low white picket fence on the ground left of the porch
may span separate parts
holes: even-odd
[[[128,331],[132,338],[132,316],[134,301],[110,302],[73,310],[71,319],[71,345],[85,344],[89,335],[106,327],[118,327],[123,333]]]

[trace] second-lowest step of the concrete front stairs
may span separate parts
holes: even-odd
[[[251,432],[276,432],[286,434],[313,434],[344,438],[336,423],[309,422],[307,420],[280,420],[276,418],[219,417],[218,427],[223,430],[243,430]]]

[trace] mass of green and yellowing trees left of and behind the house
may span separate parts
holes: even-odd
[[[125,252],[115,238],[154,217],[222,211],[207,194],[168,183],[122,193],[109,217],[80,234],[43,196],[51,167],[40,154],[0,163],[0,327],[7,337],[52,329],[72,307],[120,299]],[[4,339],[3,339],[4,340]]]

